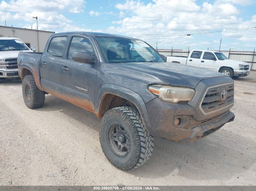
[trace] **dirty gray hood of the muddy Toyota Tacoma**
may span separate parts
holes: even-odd
[[[148,83],[163,82],[173,86],[195,88],[199,81],[206,78],[223,77],[219,72],[209,69],[177,64],[172,62],[133,62],[117,64],[128,78],[148,81]],[[227,76],[226,76],[227,77]]]

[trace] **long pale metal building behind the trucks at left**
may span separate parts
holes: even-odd
[[[43,52],[48,38],[54,33],[55,32],[44,31],[44,30],[37,31],[34,29],[0,26],[0,37],[19,38],[29,48],[32,46],[35,47],[36,52]],[[38,47],[39,47],[39,50],[38,50]]]

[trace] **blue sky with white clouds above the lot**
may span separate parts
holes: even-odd
[[[255,0],[4,0],[0,25],[137,37],[156,48],[248,51],[256,46]],[[187,36],[187,34],[191,34]]]

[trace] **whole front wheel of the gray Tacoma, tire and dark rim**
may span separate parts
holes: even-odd
[[[139,111],[132,107],[108,110],[101,119],[101,148],[108,161],[121,170],[132,170],[150,158],[154,141]]]

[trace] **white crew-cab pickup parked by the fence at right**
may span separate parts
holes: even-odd
[[[247,62],[228,59],[223,53],[210,50],[191,50],[187,56],[167,56],[167,62],[174,62],[208,68],[233,77],[247,76],[250,73]]]

